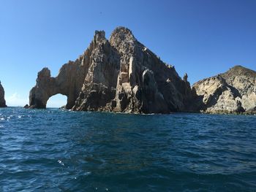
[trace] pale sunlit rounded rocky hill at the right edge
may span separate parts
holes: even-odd
[[[234,66],[193,85],[196,108],[210,113],[256,113],[256,72]]]

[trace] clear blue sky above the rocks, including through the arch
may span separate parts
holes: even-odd
[[[126,26],[193,84],[235,65],[256,71],[255,0],[0,0],[0,80],[8,106],[29,104],[37,72],[53,77],[89,46]],[[67,102],[60,94],[47,107]]]

